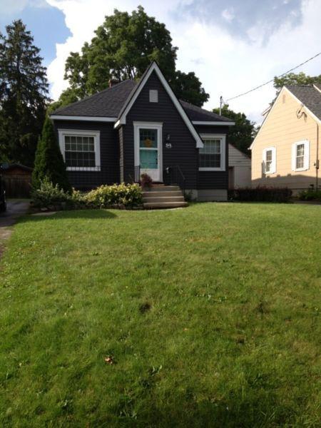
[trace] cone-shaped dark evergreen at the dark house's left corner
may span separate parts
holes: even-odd
[[[66,192],[71,191],[71,185],[66,173],[66,165],[63,162],[60,148],[58,146],[54,126],[49,117],[46,117],[41,138],[39,139],[32,173],[32,186],[34,189],[40,187],[40,183],[48,178],[54,185]]]

